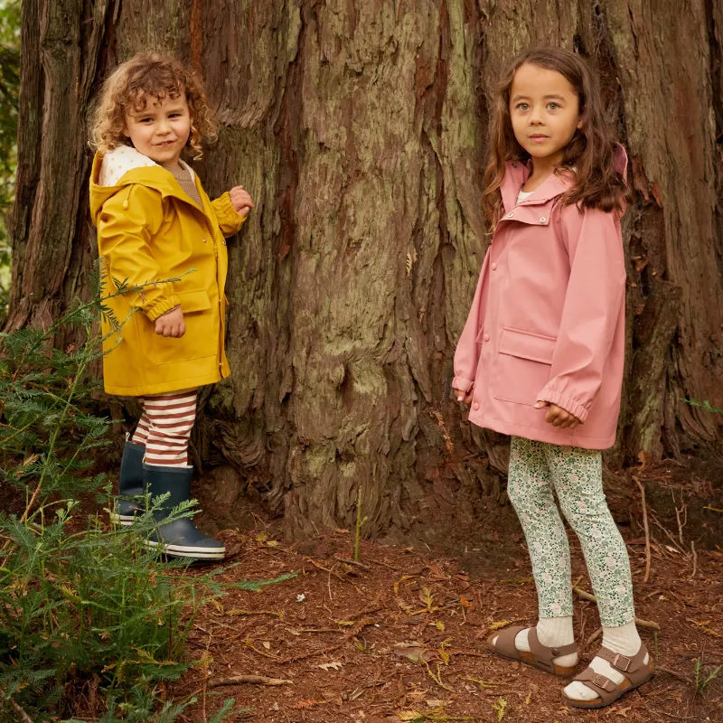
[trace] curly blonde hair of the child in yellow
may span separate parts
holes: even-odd
[[[185,94],[191,114],[188,146],[193,158],[201,158],[204,138],[216,138],[217,124],[201,80],[176,61],[160,52],[141,52],[119,65],[103,83],[92,114],[90,146],[107,153],[130,145],[123,133],[126,113],[146,109],[148,99],[177,99]]]

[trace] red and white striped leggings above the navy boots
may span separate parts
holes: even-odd
[[[188,465],[188,438],[196,421],[198,390],[138,397],[143,417],[131,441],[146,446],[148,465]]]

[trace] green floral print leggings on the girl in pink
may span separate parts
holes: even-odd
[[[617,627],[632,622],[630,560],[607,508],[601,453],[512,437],[507,492],[530,550],[540,617],[572,615],[568,535],[553,486],[582,545],[601,623]]]

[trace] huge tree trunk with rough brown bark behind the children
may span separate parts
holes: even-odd
[[[200,173],[257,203],[230,249],[230,362],[195,440],[299,537],[474,522],[503,440],[450,399],[488,239],[495,80],[555,44],[600,72],[630,150],[628,381],[614,463],[720,443],[720,0],[24,0],[8,324],[47,324],[93,258],[83,119],[149,46],[198,70],[221,119]]]

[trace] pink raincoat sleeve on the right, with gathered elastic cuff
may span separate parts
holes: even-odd
[[[586,209],[579,215],[575,206],[567,206],[562,212],[570,277],[550,380],[537,399],[584,423],[603,380],[615,329],[624,323],[623,239],[615,211]]]

